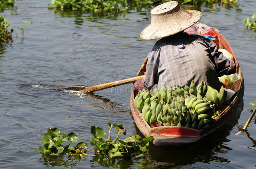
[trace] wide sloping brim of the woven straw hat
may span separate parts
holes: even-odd
[[[146,28],[144,28],[144,30],[141,31],[141,39],[153,40],[174,35],[193,26],[202,18],[202,13],[198,10],[187,11],[192,15],[184,18],[181,17],[178,20],[175,20],[176,23],[165,22],[163,25],[158,25],[157,28],[152,26],[152,24],[148,25]]]

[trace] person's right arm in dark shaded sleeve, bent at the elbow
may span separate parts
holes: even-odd
[[[209,49],[214,57],[214,64],[216,66],[217,75],[230,75],[236,72],[234,61],[226,58],[222,52],[219,52],[217,45],[213,42],[209,43]]]

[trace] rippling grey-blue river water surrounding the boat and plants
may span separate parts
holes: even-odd
[[[14,8],[1,13],[15,32],[12,46],[0,53],[0,168],[255,168],[255,118],[247,136],[235,136],[250,116],[249,102],[256,101],[256,33],[245,30],[243,24],[256,13],[255,0],[238,0],[232,8],[204,4],[197,8],[203,13],[200,22],[219,29],[228,40],[245,79],[240,119],[219,145],[193,151],[153,147],[143,159],[120,159],[112,164],[93,156],[80,162],[66,155],[43,159],[37,147],[50,127],[58,127],[61,134],[73,131],[79,141],[88,144],[90,126],[108,130],[107,120],[123,124],[127,135],[138,134],[130,109],[131,84],[84,96],[55,89],[135,76],[155,43],[139,38],[150,23],[150,12],[132,10],[115,18],[97,17],[52,11],[47,8],[49,3],[17,0]],[[25,27],[24,38],[17,27]],[[90,145],[88,154],[94,154]]]

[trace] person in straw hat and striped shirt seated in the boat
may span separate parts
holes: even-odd
[[[201,12],[184,10],[176,1],[157,6],[151,11],[151,24],[141,32],[144,40],[159,39],[148,55],[143,79],[134,88],[158,90],[165,85],[184,87],[191,81],[201,81],[219,90],[219,78],[236,72],[235,63],[217,50],[214,42],[200,35],[189,35],[183,30],[201,19]]]

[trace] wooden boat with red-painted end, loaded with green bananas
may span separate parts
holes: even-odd
[[[188,146],[191,144],[195,144],[199,141],[206,139],[212,133],[218,131],[222,126],[224,126],[227,121],[235,116],[234,112],[238,106],[238,100],[243,98],[244,93],[244,83],[243,83],[243,74],[240,66],[235,58],[235,55],[227,43],[227,40],[219,33],[219,30],[213,28],[217,32],[217,38],[219,39],[219,48],[224,48],[228,50],[233,56],[235,60],[235,64],[237,65],[237,74],[239,79],[234,81],[230,85],[230,89],[235,91],[235,95],[230,99],[230,104],[223,106],[221,114],[217,118],[215,118],[215,122],[205,126],[200,131],[197,129],[182,127],[182,126],[159,126],[151,128],[149,124],[144,120],[142,113],[138,111],[135,106],[134,97],[136,96],[136,91],[132,88],[131,91],[131,113],[133,119],[136,123],[136,126],[141,131],[144,136],[153,136],[154,141],[153,144],[159,147],[178,147],[178,146]],[[141,65],[140,70],[137,73],[137,76],[144,75],[146,71],[146,63],[147,58],[144,63]],[[238,118],[240,116],[240,112]]]

